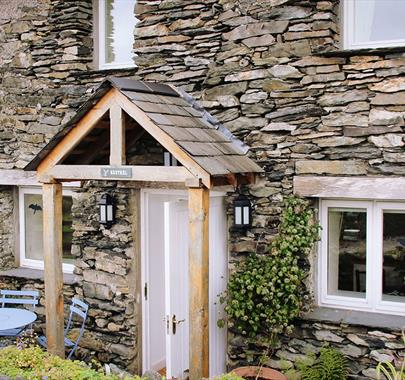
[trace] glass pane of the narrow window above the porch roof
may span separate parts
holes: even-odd
[[[105,1],[105,60],[106,63],[132,62],[135,0]]]

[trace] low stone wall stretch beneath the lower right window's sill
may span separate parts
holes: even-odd
[[[266,348],[257,343],[246,345],[245,339],[241,337],[233,337],[231,346],[231,366],[257,362],[261,353],[266,352]],[[272,357],[265,363],[285,371],[292,368],[297,360],[311,353],[317,354],[325,346],[334,347],[345,355],[351,379],[377,379],[377,364],[381,361],[401,360],[405,349],[401,332],[398,331],[299,321],[291,337],[283,337]]]

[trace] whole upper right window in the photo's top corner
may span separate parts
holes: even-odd
[[[344,0],[344,48],[405,46],[405,1]]]

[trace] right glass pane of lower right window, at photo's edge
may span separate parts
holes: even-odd
[[[405,300],[405,212],[383,213],[383,300]]]

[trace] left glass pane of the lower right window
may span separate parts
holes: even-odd
[[[366,225],[364,209],[328,209],[328,293],[365,297]]]

